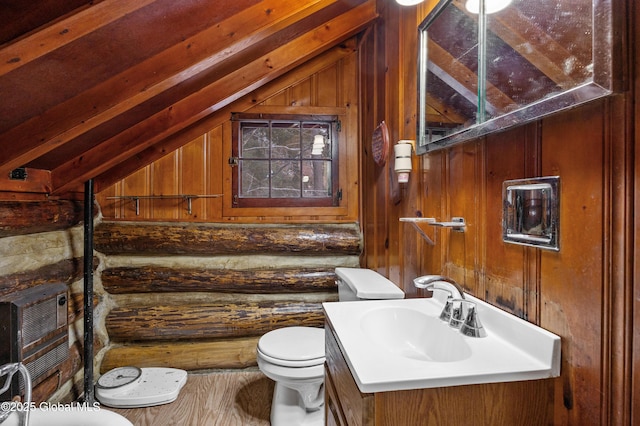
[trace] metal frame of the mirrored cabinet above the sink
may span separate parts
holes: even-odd
[[[535,1],[535,0],[532,0]],[[588,101],[608,96],[620,91],[623,85],[622,49],[625,45],[620,38],[625,34],[623,19],[614,15],[619,0],[592,0],[593,32],[592,58],[593,76],[590,82],[573,89],[565,90],[557,95],[525,105],[517,110],[493,117],[487,121],[471,125],[432,142],[426,141],[426,93],[427,93],[427,41],[431,24],[453,0],[441,0],[418,26],[418,105],[417,105],[417,137],[416,152],[427,152],[443,149],[458,143],[475,139],[490,133],[504,131],[513,126],[525,124],[547,115],[566,110]],[[619,4],[618,4],[619,5]],[[622,9],[620,9],[622,10]],[[479,16],[484,21],[486,16]],[[614,22],[615,20],[615,22]],[[485,25],[479,22],[479,44],[485,40],[482,34]],[[427,54],[424,54],[427,52]],[[479,55],[483,58],[483,55]],[[478,64],[478,69],[484,64]],[[480,73],[479,73],[480,74]],[[480,80],[480,78],[479,78]],[[478,82],[479,91],[485,87]],[[484,93],[479,93],[484,98]]]

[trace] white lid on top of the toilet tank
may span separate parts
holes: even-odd
[[[404,292],[379,273],[365,268],[336,268],[336,275],[360,299],[404,299]]]

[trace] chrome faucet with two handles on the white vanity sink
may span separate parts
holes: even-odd
[[[449,323],[451,327],[460,329],[465,336],[485,337],[487,331],[482,326],[476,304],[464,297],[464,290],[451,278],[441,275],[425,275],[413,280],[417,288],[426,290],[441,290],[449,293],[440,319]],[[466,308],[466,312],[465,312]]]

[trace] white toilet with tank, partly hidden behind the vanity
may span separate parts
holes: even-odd
[[[402,299],[404,292],[370,269],[336,268],[340,301]],[[284,327],[258,341],[258,367],[276,382],[272,426],[324,424],[324,329]]]

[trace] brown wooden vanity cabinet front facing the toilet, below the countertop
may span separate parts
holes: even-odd
[[[327,424],[373,426],[375,424],[374,395],[360,393],[333,330],[328,324],[325,326],[325,336]]]

